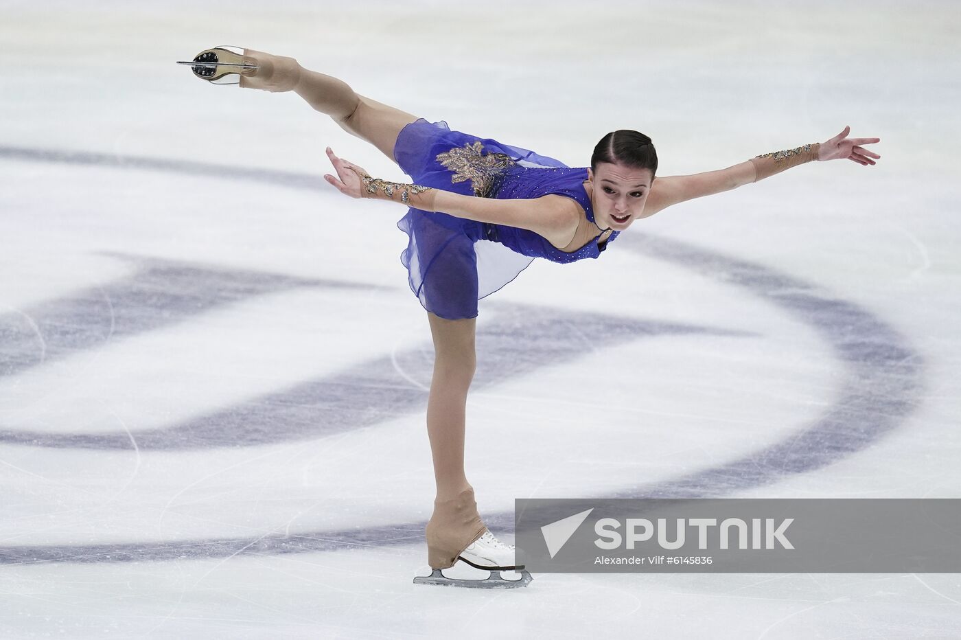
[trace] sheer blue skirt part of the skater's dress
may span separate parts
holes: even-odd
[[[566,166],[527,149],[451,131],[443,120],[431,123],[423,118],[408,124],[397,136],[394,159],[415,185],[474,195],[469,180],[454,182],[454,172],[436,158],[476,141],[482,143],[485,154],[506,154],[521,166]],[[484,224],[475,220],[407,209],[397,227],[408,237],[401,262],[407,268],[410,290],[425,309],[449,320],[477,317],[478,300],[514,280],[533,261],[485,239]]]

